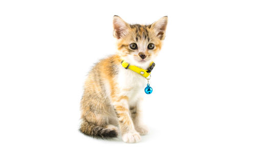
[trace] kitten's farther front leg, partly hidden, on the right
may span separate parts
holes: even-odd
[[[142,111],[141,104],[143,98],[140,98],[134,107],[130,107],[131,116],[133,119],[135,129],[140,133],[140,135],[146,135],[148,133],[148,128],[145,124],[143,124],[142,120]]]

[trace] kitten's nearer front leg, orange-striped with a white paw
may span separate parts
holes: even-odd
[[[112,99],[122,134],[122,140],[127,143],[135,143],[139,142],[141,137],[135,130],[127,100],[127,96],[118,96]]]

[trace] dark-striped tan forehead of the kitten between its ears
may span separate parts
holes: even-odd
[[[133,33],[133,38],[138,42],[138,40],[151,40],[151,25],[141,25],[141,24],[130,24],[131,32]]]

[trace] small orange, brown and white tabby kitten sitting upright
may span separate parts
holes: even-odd
[[[95,138],[115,138],[119,131],[127,143],[147,134],[141,120],[141,102],[147,80],[121,61],[147,69],[161,49],[167,16],[151,25],[128,24],[114,16],[117,53],[100,60],[89,72],[81,99],[80,132]]]

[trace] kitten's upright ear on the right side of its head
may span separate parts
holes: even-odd
[[[160,40],[163,40],[165,37],[167,22],[168,17],[164,16],[151,25],[151,28],[155,30],[156,35]]]

